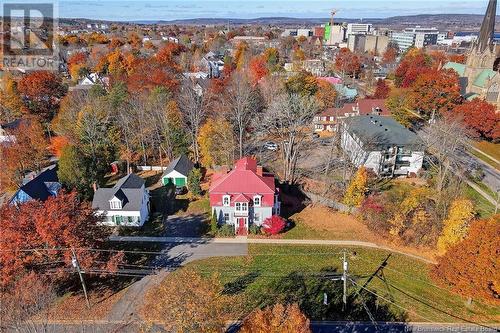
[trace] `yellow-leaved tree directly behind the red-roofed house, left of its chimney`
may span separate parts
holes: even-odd
[[[204,166],[228,165],[234,159],[236,142],[231,124],[224,119],[208,119],[200,129],[198,143]]]

